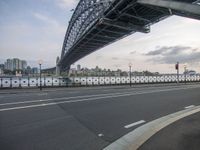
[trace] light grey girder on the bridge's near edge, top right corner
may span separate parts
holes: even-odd
[[[138,0],[137,2],[144,5],[168,8],[172,14],[200,20],[200,5],[197,4],[169,0]]]

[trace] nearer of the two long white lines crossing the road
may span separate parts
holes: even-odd
[[[80,99],[80,100],[68,100],[68,101],[53,102],[53,103],[43,103],[43,104],[28,105],[28,106],[10,107],[10,108],[0,109],[0,112],[8,111],[8,110],[25,109],[25,108],[44,107],[44,106],[51,106],[51,105],[64,104],[64,103],[77,103],[77,102],[95,101],[95,100],[99,100],[99,99],[109,100],[109,98],[114,98],[114,97],[124,97],[124,96],[150,94],[150,93],[174,91],[174,90],[185,90],[185,89],[191,89],[191,88],[167,89],[167,90],[157,90],[157,91],[148,91],[148,92],[127,93],[127,94],[122,94],[122,95],[108,95],[108,96],[104,96],[104,97],[92,97],[92,98],[86,98],[86,99]],[[117,100],[117,99],[112,99],[112,100]]]

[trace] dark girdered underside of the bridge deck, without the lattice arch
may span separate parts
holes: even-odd
[[[148,1],[151,0],[115,0],[104,15],[61,56],[59,63],[61,70],[69,68],[71,64],[84,56],[130,34],[149,33],[150,25],[173,14],[200,19],[200,14],[180,11],[169,6],[165,8],[162,5],[154,5],[155,3],[148,4]],[[185,2],[184,4],[195,2],[195,0],[177,0],[177,2],[180,1]]]

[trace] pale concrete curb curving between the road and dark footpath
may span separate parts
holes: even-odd
[[[132,132],[129,132],[128,134],[105,147],[103,150],[137,150],[141,145],[143,145],[149,138],[151,138],[161,129],[197,112],[200,112],[200,106],[178,111],[176,113],[172,113],[153,120],[143,126],[136,128]]]

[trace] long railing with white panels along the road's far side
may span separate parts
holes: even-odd
[[[177,76],[133,76],[132,84],[153,84],[153,83],[175,83]],[[179,76],[179,82],[200,82],[200,76]],[[43,87],[65,87],[65,86],[97,86],[97,85],[125,85],[130,84],[130,77],[42,77],[41,85]],[[28,88],[39,87],[40,78],[37,77],[12,77],[0,78],[0,88]]]

